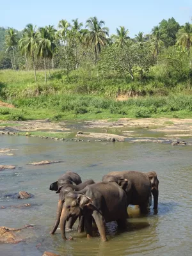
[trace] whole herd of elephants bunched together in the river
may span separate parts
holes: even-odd
[[[140,212],[148,212],[154,196],[154,211],[157,212],[159,180],[156,172],[109,172],[102,182],[92,179],[82,182],[74,172],[66,172],[58,181],[50,185],[50,190],[59,194],[56,220],[50,234],[54,234],[60,224],[61,236],[65,240],[65,230],[70,230],[77,218],[77,232],[92,237],[92,224],[95,223],[100,237],[107,241],[105,223],[116,221],[118,228],[126,227],[129,218],[129,204],[139,205]]]

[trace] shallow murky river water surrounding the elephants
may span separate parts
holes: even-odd
[[[54,141],[24,136],[1,136],[0,148],[15,148],[14,156],[0,156],[1,164],[13,164],[15,170],[0,172],[0,205],[29,203],[25,209],[0,209],[0,226],[35,225],[35,237],[19,244],[1,244],[0,255],[40,256],[47,250],[60,255],[191,255],[192,245],[192,147],[172,147],[161,143],[101,143],[100,141]],[[45,159],[63,163],[45,166],[26,165]],[[83,180],[99,181],[113,170],[155,170],[159,179],[159,212],[140,216],[129,208],[127,230],[119,232],[108,223],[109,241],[102,243],[98,234],[90,240],[77,234],[75,227],[63,241],[60,230],[54,236],[49,230],[54,223],[58,195],[49,185],[66,170],[79,173]],[[34,198],[4,198],[20,190]],[[38,248],[36,248],[38,244]]]

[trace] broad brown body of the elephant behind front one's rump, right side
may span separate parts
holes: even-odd
[[[129,204],[139,205],[140,212],[147,212],[148,202],[150,199],[152,185],[150,179],[146,173],[136,172],[136,171],[123,171],[123,172],[109,172],[107,175],[102,177],[103,182],[109,182],[112,177],[115,179],[127,179],[131,182],[128,183],[127,188],[125,189],[125,193],[127,194],[127,200],[129,200]],[[154,203],[157,207],[157,200],[155,198],[156,203]]]

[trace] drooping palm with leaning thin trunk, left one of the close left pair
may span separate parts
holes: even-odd
[[[35,73],[35,82],[36,82],[36,67],[35,67],[36,42],[37,42],[36,26],[33,26],[33,24],[28,24],[26,28],[24,28],[22,38],[19,40],[19,48],[22,54],[32,57],[33,68]]]

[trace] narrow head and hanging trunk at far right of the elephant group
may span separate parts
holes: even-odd
[[[157,173],[156,172],[148,172],[147,176],[150,179],[150,183],[152,186],[151,192],[152,192],[152,195],[154,196],[154,210],[157,211],[158,198],[159,198],[159,180],[157,179]]]

